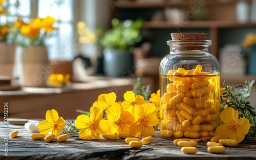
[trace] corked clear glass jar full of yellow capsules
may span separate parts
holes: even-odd
[[[171,140],[208,140],[220,120],[220,64],[208,52],[210,40],[178,34],[160,63],[160,132]]]

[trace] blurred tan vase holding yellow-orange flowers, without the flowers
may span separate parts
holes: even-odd
[[[48,51],[44,46],[23,48],[20,84],[24,87],[47,87],[50,67]]]

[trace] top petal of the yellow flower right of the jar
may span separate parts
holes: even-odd
[[[225,124],[230,124],[238,120],[238,113],[233,108],[228,107],[221,112],[220,118]]]

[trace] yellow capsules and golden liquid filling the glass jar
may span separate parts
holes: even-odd
[[[220,74],[203,71],[199,64],[194,70],[170,70],[160,78],[162,136],[211,139],[218,125]]]

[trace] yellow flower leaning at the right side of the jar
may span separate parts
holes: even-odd
[[[238,119],[238,112],[230,107],[222,111],[220,117],[224,124],[218,126],[216,134],[222,139],[229,138],[237,140],[238,143],[243,141],[250,128],[249,120],[247,118]]]

